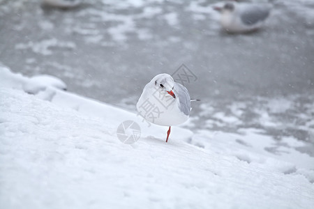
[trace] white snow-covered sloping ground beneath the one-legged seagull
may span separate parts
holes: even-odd
[[[305,142],[276,155],[259,130],[177,127],[165,144],[166,127],[58,79],[0,77],[0,208],[313,208],[313,157],[292,151]],[[142,131],[132,145],[117,137],[126,120]]]

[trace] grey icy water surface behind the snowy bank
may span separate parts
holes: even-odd
[[[57,10],[0,0],[0,61],[130,111],[154,75],[184,63],[197,78],[186,84],[191,97],[202,100],[186,127],[253,127],[304,141],[297,149],[314,155],[314,1],[271,1],[264,29],[245,35],[220,30],[215,1],[86,2]]]

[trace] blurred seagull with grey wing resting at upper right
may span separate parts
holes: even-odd
[[[213,8],[221,13],[220,24],[230,33],[245,33],[260,29],[271,10],[269,4],[234,1],[227,1],[223,6]]]

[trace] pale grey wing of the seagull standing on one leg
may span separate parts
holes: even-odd
[[[179,98],[180,104],[179,109],[184,112],[185,115],[190,114],[190,94],[188,89],[181,84],[174,83],[174,93]]]

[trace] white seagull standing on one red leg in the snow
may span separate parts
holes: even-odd
[[[188,89],[174,82],[171,75],[163,73],[156,75],[146,84],[136,108],[140,116],[149,123],[169,126],[167,142],[171,126],[188,120],[191,110],[190,102]]]

